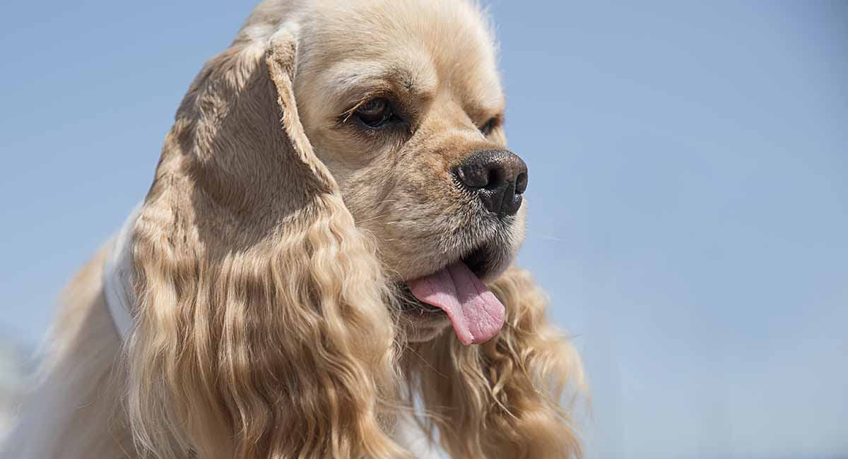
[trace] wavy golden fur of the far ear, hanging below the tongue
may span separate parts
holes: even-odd
[[[580,457],[566,389],[582,390],[577,352],[544,317],[546,298],[510,268],[491,289],[506,307],[500,335],[481,346],[442,336],[404,355],[421,394],[421,426],[452,457]],[[448,330],[452,334],[452,330]]]

